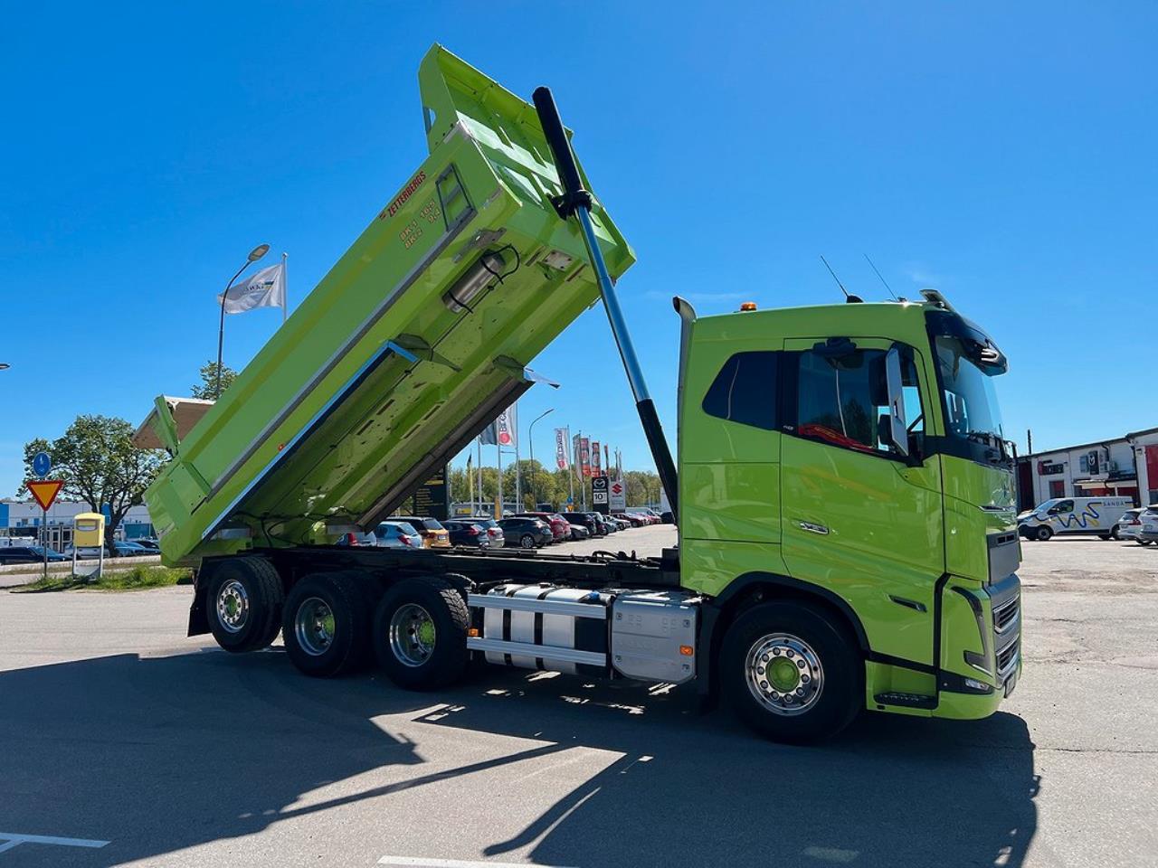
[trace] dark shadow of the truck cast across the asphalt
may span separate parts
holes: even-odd
[[[455,766],[439,756],[446,733],[435,727],[526,741]],[[494,836],[483,856],[581,868],[1018,866],[1036,826],[1033,744],[1007,714],[960,724],[872,715],[831,744],[785,748],[724,712],[701,714],[687,690],[484,669],[415,694],[378,675],[309,679],[279,652],[200,652],[2,671],[0,728],[0,829],[112,841],[21,846],[20,865],[167,865],[164,854],[198,844],[376,800],[374,827],[344,826],[365,859],[340,862],[373,865],[388,852],[394,794],[464,779],[472,786],[454,792],[483,785],[504,810],[533,790],[521,785],[515,799],[493,782],[510,777],[470,775],[576,748],[618,756],[516,834]],[[364,788],[328,790],[364,774]]]

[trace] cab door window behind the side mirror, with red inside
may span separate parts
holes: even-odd
[[[909,432],[919,440],[924,415],[911,361],[902,366],[902,383]],[[878,432],[880,415],[888,412],[885,351],[800,353],[797,396],[798,435],[863,453],[889,451]]]

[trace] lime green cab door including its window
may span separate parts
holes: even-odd
[[[782,546],[789,574],[844,598],[872,649],[932,663],[933,599],[945,571],[941,469],[910,465],[878,436],[892,341],[785,341],[780,442]],[[931,406],[918,351],[907,347],[910,453]]]

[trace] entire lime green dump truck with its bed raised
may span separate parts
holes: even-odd
[[[437,689],[475,660],[694,682],[765,735],[862,708],[976,719],[1020,672],[1012,456],[995,343],[939,294],[697,318],[675,299],[672,459],[616,300],[633,253],[534,105],[444,49],[419,69],[430,157],[215,403],[138,432],[190,635],[280,632],[303,672],[375,659]],[[607,310],[679,545],[657,558],[336,545],[373,528]]]

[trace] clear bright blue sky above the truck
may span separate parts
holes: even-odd
[[[1158,425],[1152,2],[9,3],[0,32],[0,495],[82,412],[134,424],[217,351],[259,242],[291,308],[425,155],[441,42],[550,84],[636,249],[624,309],[674,437],[679,293],[699,312],[937,287],[1011,360],[1025,448]],[[243,366],[280,323],[227,322]],[[600,360],[581,378],[569,360]],[[650,465],[601,308],[534,367],[550,424]],[[490,450],[493,451],[493,450]]]

